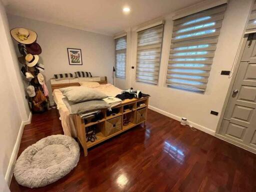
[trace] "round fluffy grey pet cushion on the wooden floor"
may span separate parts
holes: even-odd
[[[13,174],[23,186],[45,186],[70,172],[79,155],[79,146],[72,137],[62,134],[47,136],[20,154]]]

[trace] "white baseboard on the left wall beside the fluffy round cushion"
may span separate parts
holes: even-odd
[[[5,173],[5,181],[6,181],[8,186],[10,185],[11,177],[12,177],[12,174],[13,174],[13,169],[14,169],[14,165],[15,165],[15,162],[16,162],[16,159],[17,159],[18,149],[19,149],[22,133],[23,133],[23,130],[24,130],[24,126],[31,122],[31,117],[32,117],[32,113],[30,112],[28,120],[23,120],[20,124],[17,139],[16,139],[16,142],[14,144],[14,147],[13,147],[13,150],[12,150],[12,153],[11,153],[11,156],[10,156],[7,171]]]

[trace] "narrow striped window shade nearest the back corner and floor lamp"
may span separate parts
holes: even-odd
[[[115,77],[125,78],[126,36],[115,39]]]

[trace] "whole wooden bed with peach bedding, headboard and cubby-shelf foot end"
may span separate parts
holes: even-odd
[[[80,86],[79,82],[86,80],[73,78],[63,81],[53,79],[52,81],[52,95],[59,111],[63,132],[65,135],[77,138],[83,148],[84,156],[87,156],[88,148],[120,134],[123,131],[141,123],[143,123],[143,126],[145,127],[149,95],[141,98],[120,100],[115,106],[110,105],[112,110],[115,110],[112,114],[107,114],[107,109],[101,108],[100,112],[103,118],[93,122],[85,122],[80,114],[69,113],[68,108],[62,100],[64,96],[59,88]],[[94,88],[108,96],[116,96],[121,93],[121,89],[107,83],[106,77],[100,78],[100,81],[97,82],[100,83],[100,85],[97,84]],[[88,140],[88,137],[86,137],[86,127],[92,126],[95,126],[96,139],[94,141]]]

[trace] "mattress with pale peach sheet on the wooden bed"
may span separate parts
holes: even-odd
[[[121,93],[121,89],[113,86],[112,84],[100,84],[95,89],[105,93],[108,96],[115,96]],[[54,89],[52,92],[53,99],[57,105],[57,109],[59,111],[61,125],[63,128],[63,132],[65,135],[77,137],[76,128],[75,128],[75,115],[69,114],[69,111],[64,104],[62,98],[65,96],[59,89]]]

